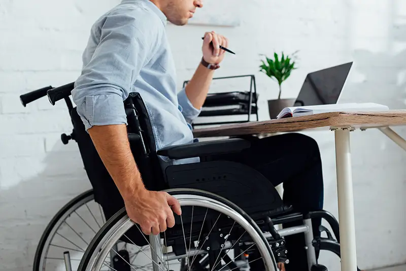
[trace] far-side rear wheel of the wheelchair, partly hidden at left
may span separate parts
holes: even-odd
[[[33,271],[66,270],[65,252],[70,252],[72,266],[78,266],[91,239],[105,222],[92,189],[72,199],[58,211],[42,234]]]

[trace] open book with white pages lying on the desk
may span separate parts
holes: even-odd
[[[350,103],[350,104],[333,104],[333,105],[318,105],[318,106],[303,106],[303,107],[286,107],[284,108],[277,119],[306,116],[327,112],[356,112],[356,111],[384,111],[389,110],[387,106],[375,103]]]

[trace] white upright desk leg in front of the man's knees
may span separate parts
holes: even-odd
[[[341,270],[357,270],[350,130],[335,130],[335,160],[339,198]]]

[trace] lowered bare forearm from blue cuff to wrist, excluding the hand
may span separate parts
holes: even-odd
[[[129,147],[126,125],[93,126],[88,132],[121,196],[126,197],[144,189]]]

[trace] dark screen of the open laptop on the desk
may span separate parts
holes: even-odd
[[[304,79],[295,106],[336,104],[353,62],[310,73]]]

